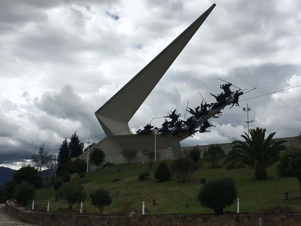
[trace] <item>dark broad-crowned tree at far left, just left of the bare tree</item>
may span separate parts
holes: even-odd
[[[43,187],[42,177],[39,175],[39,171],[30,166],[22,166],[19,170],[17,170],[13,179],[17,182],[17,184],[21,184],[22,181],[25,181],[28,184],[32,184],[35,188]]]

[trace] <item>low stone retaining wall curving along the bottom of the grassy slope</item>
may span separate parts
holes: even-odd
[[[94,215],[57,215],[26,211],[6,201],[10,214],[31,224],[45,226],[256,226],[261,217],[265,226],[299,226],[301,215],[186,215],[186,216],[136,216],[113,217]]]

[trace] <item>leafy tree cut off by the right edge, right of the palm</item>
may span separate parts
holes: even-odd
[[[296,177],[299,180],[301,198],[301,147],[290,146],[279,155],[278,174],[281,177]]]

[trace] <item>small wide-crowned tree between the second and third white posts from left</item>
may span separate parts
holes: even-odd
[[[73,204],[77,204],[78,207],[80,202],[84,202],[87,198],[87,193],[84,190],[84,187],[80,184],[64,184],[60,187],[55,195],[55,199],[65,199],[68,201],[69,209],[73,210]],[[75,209],[76,209],[75,208]],[[74,209],[74,210],[75,210]]]

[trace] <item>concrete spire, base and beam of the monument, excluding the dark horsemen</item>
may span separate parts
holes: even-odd
[[[107,137],[96,143],[91,148],[91,151],[93,151],[94,148],[101,148],[106,154],[107,161],[126,163],[126,160],[120,157],[121,150],[131,148],[135,149],[138,155],[141,155],[143,149],[153,149],[154,135],[145,134],[141,136],[132,134],[128,125],[129,120],[215,6],[215,4],[210,6],[185,31],[95,112]],[[198,123],[198,126],[200,124],[201,122]],[[196,131],[197,130],[195,130],[195,132]],[[168,148],[172,142],[183,140],[188,136],[188,133],[181,134],[180,137],[157,136],[157,149]],[[84,152],[79,157],[86,159],[86,155],[87,153]]]

